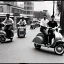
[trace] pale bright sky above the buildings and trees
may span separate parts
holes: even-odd
[[[23,2],[18,2],[19,4],[24,4]],[[34,11],[48,10],[49,14],[53,13],[53,1],[34,1]],[[55,6],[56,11],[56,6]]]

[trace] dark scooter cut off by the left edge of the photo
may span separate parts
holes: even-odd
[[[13,36],[14,36],[14,33],[13,33],[11,24],[6,24],[3,27],[1,27],[1,30],[0,30],[0,42],[1,43],[5,42],[6,39],[10,39],[10,41],[12,42]]]

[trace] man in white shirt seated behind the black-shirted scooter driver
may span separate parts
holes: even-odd
[[[45,38],[46,38],[46,43],[45,44],[47,44],[47,42],[48,42],[48,34],[46,33],[46,29],[47,29],[47,23],[49,22],[49,20],[46,18],[46,15],[44,16],[44,18],[41,20],[41,23],[40,23],[40,31],[42,32],[42,33],[44,33],[44,35],[45,35]]]

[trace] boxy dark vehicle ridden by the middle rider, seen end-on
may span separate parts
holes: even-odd
[[[18,35],[18,38],[20,38],[20,37],[24,37],[25,38],[25,35],[26,35],[26,27],[25,27],[25,25],[17,24],[17,35]]]

